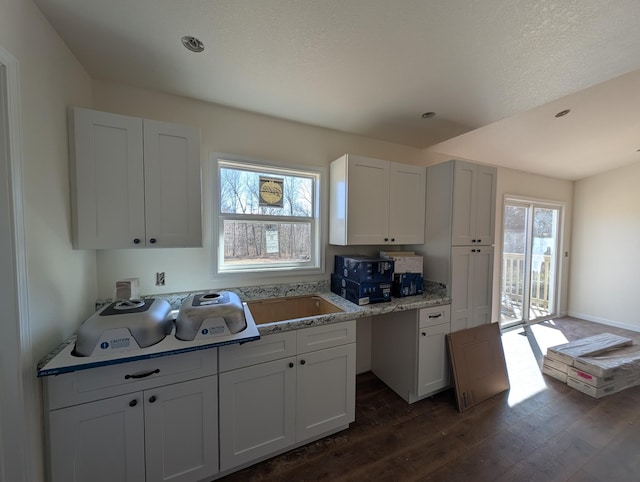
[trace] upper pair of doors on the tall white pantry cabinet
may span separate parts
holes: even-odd
[[[495,167],[454,161],[451,244],[492,245],[495,232]]]

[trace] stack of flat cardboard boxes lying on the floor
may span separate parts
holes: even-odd
[[[594,398],[640,384],[640,345],[602,333],[550,347],[542,372]]]

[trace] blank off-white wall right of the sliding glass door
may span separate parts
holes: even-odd
[[[640,163],[576,182],[569,313],[640,331]]]

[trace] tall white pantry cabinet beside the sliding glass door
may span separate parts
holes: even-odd
[[[491,166],[427,168],[425,269],[448,287],[452,332],[491,322],[496,185]]]

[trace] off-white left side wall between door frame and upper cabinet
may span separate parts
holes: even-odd
[[[19,63],[21,150],[28,276],[28,319],[35,363],[93,310],[95,253],[71,249],[66,107],[90,105],[91,81],[31,0],[0,2],[0,46]],[[3,317],[0,325],[14,323]],[[16,387],[2,387],[14,390]],[[25,407],[34,421],[27,432],[33,467],[30,479],[43,480],[42,408]],[[32,393],[29,391],[29,393]],[[32,433],[33,432],[33,433]],[[2,433],[6,443],[19,440]]]

